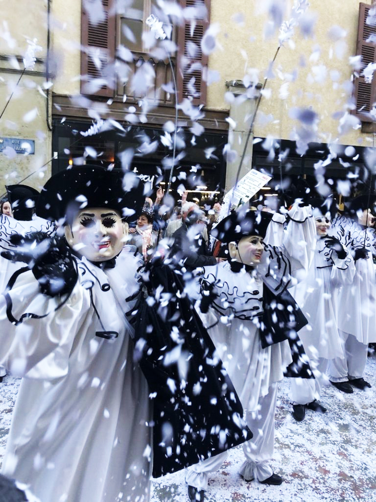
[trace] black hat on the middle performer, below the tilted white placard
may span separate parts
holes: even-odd
[[[233,211],[213,228],[211,234],[221,242],[239,242],[249,235],[265,237],[273,213],[268,211]]]

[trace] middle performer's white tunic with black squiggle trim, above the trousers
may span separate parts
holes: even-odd
[[[201,314],[204,324],[210,328],[243,408],[256,411],[259,398],[283,379],[284,369],[292,362],[289,343],[285,340],[261,347],[257,314],[262,312],[263,282],[257,274],[234,273],[226,262],[205,267],[202,280],[216,282],[220,294],[210,312]],[[234,312],[251,319],[234,317]]]

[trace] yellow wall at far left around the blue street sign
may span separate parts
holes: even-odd
[[[51,173],[51,133],[47,127],[44,60],[47,54],[47,0],[0,0],[2,30],[0,37],[0,113],[12,91],[14,95],[0,119],[0,137],[35,141],[35,154],[17,154],[15,158],[0,153],[0,195],[4,185],[24,184],[40,189]],[[5,24],[4,24],[5,23]],[[36,53],[43,62],[16,83],[24,69],[22,59],[26,39],[37,39],[42,51]],[[25,181],[24,178],[27,178]]]

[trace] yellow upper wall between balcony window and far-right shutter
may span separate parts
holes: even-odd
[[[365,3],[371,2],[368,0]],[[220,30],[218,48],[211,54],[209,65],[210,69],[220,73],[220,81],[208,88],[209,108],[228,110],[229,104],[224,98],[225,82],[243,79],[252,68],[259,70],[259,82],[264,82],[265,71],[278,48],[278,34],[265,39],[267,18],[260,13],[261,5],[255,1],[212,1],[211,22],[218,23]],[[316,19],[313,37],[304,39],[299,29],[295,29],[292,37],[294,47],[286,43],[280,49],[274,64],[274,78],[269,79],[266,86],[271,96],[261,100],[255,136],[294,139],[296,120],[289,117],[289,110],[293,107],[312,107],[319,116],[318,141],[369,146],[370,135],[354,130],[339,135],[338,119],[332,117],[345,110],[350,97],[348,82],[352,70],[348,58],[356,50],[358,9],[358,0],[310,0],[307,13]],[[239,23],[238,13],[243,17],[242,23]],[[286,12],[285,19],[289,17]],[[337,42],[328,36],[333,25],[346,32],[346,36]],[[320,81],[317,75],[323,71],[326,71],[326,77]],[[333,81],[332,78],[338,80]],[[281,85],[294,79],[288,84],[287,98],[281,99]]]

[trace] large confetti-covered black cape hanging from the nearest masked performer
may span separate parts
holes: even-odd
[[[252,437],[231,380],[183,278],[154,263],[131,322],[135,357],[153,399],[153,476],[174,472]]]

